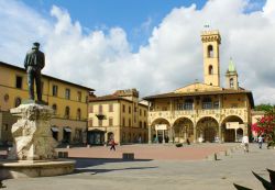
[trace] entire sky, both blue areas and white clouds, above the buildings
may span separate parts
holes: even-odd
[[[204,82],[200,33],[210,24],[222,38],[221,86],[232,57],[256,104],[275,103],[274,18],[275,0],[0,0],[0,60],[22,67],[38,41],[43,74],[97,96],[165,93]]]

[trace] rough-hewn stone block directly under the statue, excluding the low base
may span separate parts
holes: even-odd
[[[57,158],[55,147],[57,142],[51,132],[53,110],[47,105],[36,103],[21,104],[11,109],[19,116],[12,125],[13,147],[8,159],[45,160]]]

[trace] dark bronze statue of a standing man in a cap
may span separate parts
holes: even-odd
[[[40,43],[33,43],[31,51],[26,53],[24,67],[28,72],[29,97],[34,100],[34,80],[36,85],[36,93],[38,102],[42,102],[42,89],[41,89],[41,70],[45,66],[44,53],[40,51]]]

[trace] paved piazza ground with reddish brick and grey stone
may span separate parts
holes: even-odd
[[[261,190],[252,170],[268,178],[266,168],[275,169],[275,149],[258,149],[251,144],[249,154],[235,149],[219,160],[206,155],[239,144],[202,144],[176,148],[170,145],[128,145],[110,152],[108,147],[70,148],[77,160],[75,174],[58,177],[8,179],[11,190],[230,190],[233,182]],[[134,161],[123,161],[121,154],[135,153]],[[80,158],[81,157],[81,158]],[[99,158],[101,157],[101,158]]]

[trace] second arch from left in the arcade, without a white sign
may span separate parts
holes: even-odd
[[[180,118],[175,121],[174,125],[174,134],[173,139],[176,143],[184,143],[189,139],[189,142],[194,141],[194,124],[191,120],[187,118]]]

